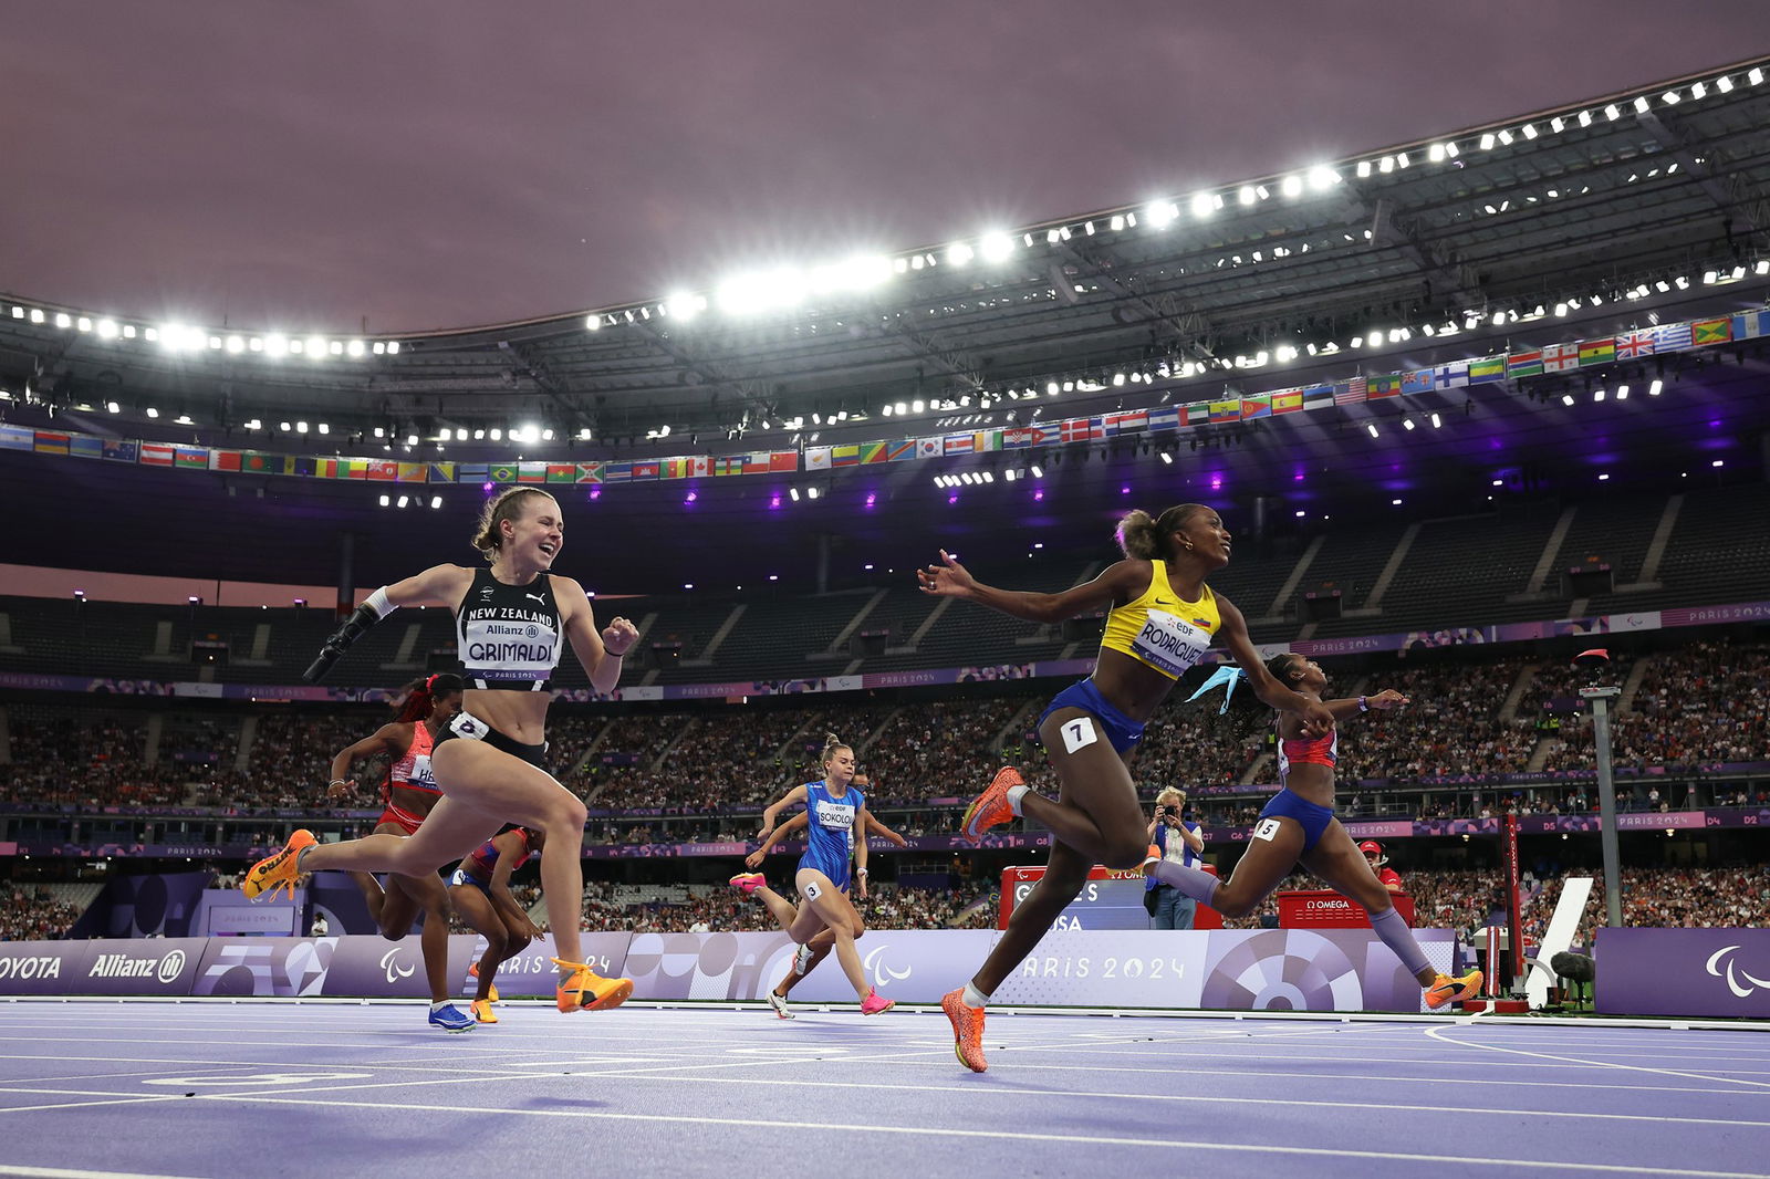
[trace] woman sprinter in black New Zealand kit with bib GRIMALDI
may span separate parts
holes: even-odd
[[[549,572],[563,543],[565,520],[554,497],[536,487],[513,487],[480,513],[474,547],[490,568],[435,565],[382,586],[326,641],[306,671],[308,682],[324,676],[345,648],[402,605],[446,602],[455,611],[467,692],[430,752],[442,797],[407,837],[379,834],[315,846],[312,832],[297,830],[289,846],[246,873],[241,889],[248,898],[294,889],[301,873],[326,867],[434,873],[496,836],[508,820],[547,832],[542,889],[559,951],[559,1011],[616,1007],[632,995],[630,981],[604,979],[579,961],[584,802],[547,774],[542,759],[552,701],[549,676],[559,666],[563,643],[572,643],[591,685],[611,692],[639,632],[625,618],[596,632],[582,586]]]

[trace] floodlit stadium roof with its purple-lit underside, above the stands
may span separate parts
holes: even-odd
[[[12,395],[4,409],[19,425],[304,455],[719,457],[1232,398],[1729,315],[1763,306],[1770,287],[1766,73],[1770,58],[1742,62],[1356,159],[517,324],[310,340],[273,326],[181,329],[0,297],[0,388]],[[634,485],[584,505],[598,549],[614,542],[625,552],[655,552],[658,536],[673,535],[658,531],[662,512],[724,522],[683,533],[680,558],[630,570],[632,584],[611,579],[609,590],[676,584],[708,559],[742,572],[747,552],[775,540],[800,552],[820,533],[874,545],[933,529],[933,519],[940,536],[961,517],[981,536],[1000,536],[1004,524],[1028,520],[1051,529],[1087,520],[1097,531],[1096,520],[1131,499],[1246,503],[1258,492],[1283,515],[1384,505],[1404,490],[1466,505],[1492,478],[1556,489],[1563,458],[1662,476],[1710,451],[1726,458],[1719,450],[1736,466],[1759,462],[1749,446],[1770,411],[1756,347],[1680,356],[1669,370],[1666,358],[1651,372],[1637,366],[1639,382],[1683,381],[1671,397],[1637,397],[1627,409],[1589,397],[1595,382],[1628,379],[1618,366],[1407,404],[1416,425],[1439,412],[1439,430],[1404,432],[1402,409],[1356,405],[1067,446],[1051,451],[1066,483],[1057,494],[1053,482],[1037,506],[1005,485],[933,487],[936,471],[1025,466],[1014,455],[708,480],[694,505],[683,503],[683,483]],[[280,430],[303,420],[313,427],[306,435]],[[1370,425],[1382,427],[1377,437]],[[522,427],[554,441],[474,437]],[[407,437],[418,439],[411,450]],[[1099,462],[1078,462],[1090,450]],[[1177,458],[1172,467],[1161,450]],[[168,478],[0,457],[9,501],[53,480],[96,505],[73,529],[34,535],[44,554],[34,563],[78,556],[78,542],[62,543],[69,535],[122,545],[124,566],[152,563],[124,556],[133,536],[104,526],[117,503],[221,520],[223,499],[244,506],[266,496],[285,506],[292,535],[388,531],[377,489],[363,485]],[[1133,492],[1120,494],[1126,485]],[[795,487],[820,487],[821,503],[770,510]],[[444,506],[469,492],[478,487],[448,489]],[[963,512],[936,517],[952,494]],[[451,535],[460,513],[450,513]],[[402,536],[441,528],[428,513],[400,519]],[[758,520],[775,531],[756,531]],[[435,552],[434,540],[423,543]],[[1007,536],[1000,549],[1020,543]],[[257,575],[244,572],[253,554],[227,559],[227,575]]]

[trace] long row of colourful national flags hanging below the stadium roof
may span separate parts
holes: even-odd
[[[69,455],[131,462],[147,467],[177,471],[225,471],[241,474],[292,474],[322,480],[365,480],[381,483],[641,483],[657,480],[719,478],[731,474],[791,474],[830,471],[880,462],[908,462],[919,458],[947,458],[988,451],[1028,450],[1035,446],[1066,446],[1140,434],[1163,434],[1202,425],[1278,418],[1294,412],[1313,412],[1336,405],[1358,405],[1389,397],[1411,397],[1435,389],[1457,389],[1499,381],[1519,381],[1547,374],[1577,372],[1618,361],[1632,361],[1667,352],[1754,340],[1770,333],[1770,312],[1743,312],[1699,319],[1683,324],[1662,324],[1627,331],[1600,340],[1551,343],[1542,349],[1520,349],[1499,356],[1451,361],[1432,368],[1414,368],[1391,374],[1366,374],[1343,381],[1297,386],[1273,393],[1257,393],[1216,402],[1188,405],[1159,405],[1154,409],[1127,409],[1064,421],[1041,421],[1025,427],[995,427],[936,434],[933,437],[904,437],[880,443],[844,443],[839,446],[807,446],[796,450],[759,450],[740,455],[690,455],[678,458],[639,458],[632,462],[400,462],[395,458],[320,458],[310,455],[280,455],[258,450],[228,450],[221,446],[179,446],[172,443],[143,443],[133,439],[96,437],[65,430],[34,430],[0,425],[0,450],[21,450],[39,455]]]

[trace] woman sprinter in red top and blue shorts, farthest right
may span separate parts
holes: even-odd
[[[1328,676],[1322,674],[1315,660],[1290,651],[1274,655],[1266,671],[1313,701],[1320,701],[1322,689],[1328,687]],[[1220,676],[1227,680],[1228,694],[1234,697],[1237,673],[1225,667],[1212,676],[1211,683],[1216,683]],[[1207,690],[1211,683],[1198,694]],[[1384,689],[1375,696],[1331,699],[1326,708],[1335,720],[1349,720],[1372,708],[1388,712],[1405,703],[1405,696],[1395,689]],[[1225,701],[1227,706],[1228,701]],[[1414,931],[1395,912],[1389,890],[1377,880],[1377,873],[1372,871],[1352,837],[1345,834],[1340,820],[1333,816],[1333,774],[1338,756],[1338,731],[1312,736],[1303,731],[1296,717],[1280,715],[1278,793],[1260,811],[1260,821],[1253,828],[1253,837],[1248,839],[1248,850],[1230,878],[1220,882],[1207,871],[1158,857],[1150,857],[1143,871],[1225,917],[1246,917],[1278,887],[1280,880],[1290,875],[1292,867],[1303,864],[1329,889],[1354,905],[1365,906],[1365,912],[1370,913],[1370,928],[1377,931],[1384,945],[1395,951],[1407,972],[1420,979],[1428,1007],[1443,1007],[1476,995],[1481,990],[1480,970],[1451,979],[1427,965],[1427,956],[1414,940]]]

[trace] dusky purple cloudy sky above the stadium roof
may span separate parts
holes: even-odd
[[[1763,0],[48,4],[0,290],[501,322],[1188,193],[1770,51]]]

